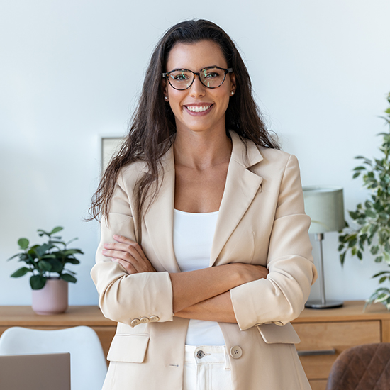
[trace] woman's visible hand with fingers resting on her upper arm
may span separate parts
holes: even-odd
[[[102,251],[104,256],[111,257],[114,262],[121,264],[128,274],[156,272],[138,243],[123,235],[113,235],[113,238],[118,243],[104,244],[105,249]]]

